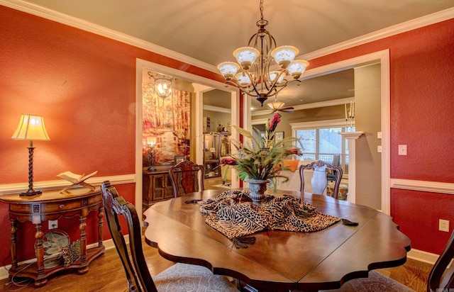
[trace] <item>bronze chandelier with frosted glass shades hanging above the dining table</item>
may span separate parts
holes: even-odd
[[[250,38],[247,47],[239,47],[233,52],[238,64],[218,64],[226,84],[254,96],[261,106],[268,97],[275,96],[285,86],[293,82],[301,83],[299,77],[309,65],[305,60],[294,60],[299,52],[297,47],[277,47],[275,38],[265,29],[267,24],[268,21],[263,19],[263,0],[260,0],[260,21],[256,23],[258,32]],[[270,69],[272,61],[279,64],[279,69]]]

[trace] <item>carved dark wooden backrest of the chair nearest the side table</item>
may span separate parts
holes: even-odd
[[[125,268],[129,291],[157,291],[143,255],[142,231],[135,207],[118,196],[116,189],[111,186],[109,181],[104,181],[101,191],[107,225]],[[126,244],[124,238],[126,232],[121,231],[121,225],[118,223],[118,215],[126,218],[129,245]],[[133,259],[133,263],[131,263],[131,259]]]

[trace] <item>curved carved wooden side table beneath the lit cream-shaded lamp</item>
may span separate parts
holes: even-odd
[[[37,196],[19,196],[9,194],[0,196],[0,201],[9,204],[9,217],[11,220],[11,269],[10,276],[22,276],[35,280],[35,286],[43,286],[48,281],[48,276],[64,269],[77,269],[79,274],[87,273],[88,265],[93,259],[104,254],[102,243],[103,231],[103,203],[101,191],[89,191],[87,189],[70,189],[65,193],[60,191],[43,191]],[[98,216],[98,246],[87,249],[87,215],[90,211],[97,210]],[[45,268],[44,247],[42,231],[45,220],[57,220],[58,218],[71,218],[79,215],[80,252],[81,257],[70,266],[54,266]],[[17,261],[17,235],[18,223],[31,221],[35,225],[35,249],[36,263],[31,265],[18,265]]]

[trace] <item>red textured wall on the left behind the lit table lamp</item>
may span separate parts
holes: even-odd
[[[36,141],[34,181],[60,172],[135,173],[135,61],[149,60],[222,81],[222,77],[153,52],[0,6],[0,184],[28,180],[28,142],[11,140],[21,113],[44,116],[50,141]],[[135,184],[116,186],[134,202]],[[96,216],[89,215],[89,226]],[[78,218],[59,220],[73,240]],[[43,226],[47,230],[47,224]],[[0,203],[0,260],[9,257],[8,206]],[[34,257],[34,226],[20,225],[19,260]],[[87,230],[96,242],[96,228]],[[104,229],[104,238],[110,238]],[[11,263],[7,259],[4,264]]]

